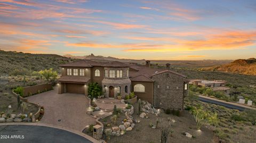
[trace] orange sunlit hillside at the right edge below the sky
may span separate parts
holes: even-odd
[[[204,68],[204,70],[256,75],[256,58],[238,59],[229,64]]]

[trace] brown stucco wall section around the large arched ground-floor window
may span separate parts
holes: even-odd
[[[134,91],[134,86],[141,84],[145,86],[145,92],[134,92],[138,99],[147,100],[149,103],[153,103],[153,88],[154,82],[141,82],[141,81],[132,81],[132,91]]]

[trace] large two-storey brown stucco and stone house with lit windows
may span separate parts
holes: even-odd
[[[82,60],[61,65],[59,94],[70,92],[87,95],[87,85],[97,82],[106,98],[124,98],[134,92],[141,100],[147,100],[155,107],[183,109],[183,98],[188,94],[188,80],[185,75],[146,65],[122,62],[95,62]]]

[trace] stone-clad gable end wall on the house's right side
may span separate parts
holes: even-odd
[[[170,72],[164,72],[154,75],[152,79],[155,80],[154,106],[183,110],[183,96],[187,92],[184,90],[184,78]]]

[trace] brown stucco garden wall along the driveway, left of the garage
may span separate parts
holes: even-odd
[[[51,90],[53,83],[43,83],[41,85],[29,86],[24,87],[24,97],[31,96],[34,94],[38,94],[38,91],[48,91]]]

